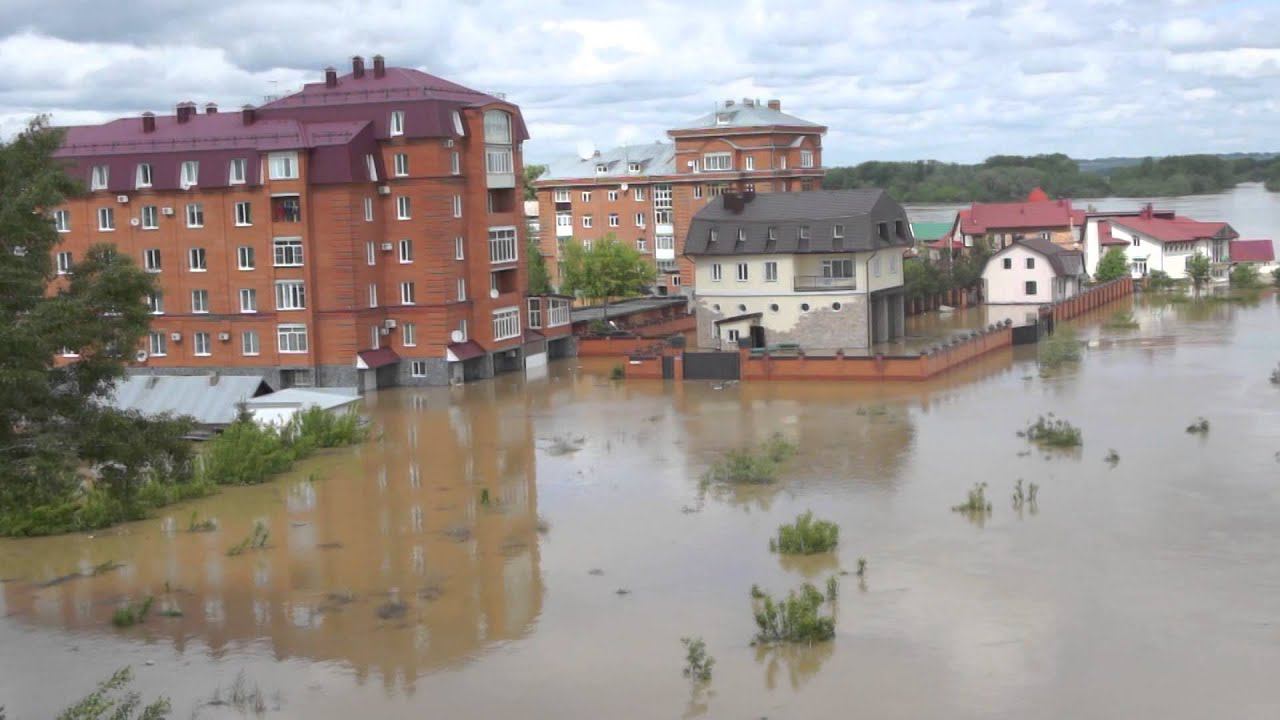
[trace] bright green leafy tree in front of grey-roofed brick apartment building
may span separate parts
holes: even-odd
[[[657,278],[654,266],[635,247],[618,242],[613,233],[591,243],[564,245],[564,270],[561,292],[604,304],[604,316],[609,315],[609,301],[644,292]]]

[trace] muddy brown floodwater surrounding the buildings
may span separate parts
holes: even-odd
[[[1137,302],[1137,331],[1079,320],[1083,360],[1048,378],[1016,348],[920,384],[612,383],[567,360],[380,393],[380,439],[278,482],[0,542],[0,705],[49,717],[132,665],[175,717],[234,716],[202,703],[241,673],[266,716],[308,719],[1277,717],[1280,302]],[[1042,413],[1083,450],[1015,434]],[[800,447],[777,484],[700,491],[774,432]],[[1041,488],[1020,511],[1019,478]],[[989,518],[952,512],[977,482]],[[771,555],[808,509],[838,552]],[[269,547],[228,557],[255,521]],[[753,583],[858,557],[832,642],[751,647]],[[111,626],[147,594],[183,615]],[[705,692],[685,635],[716,659]]]

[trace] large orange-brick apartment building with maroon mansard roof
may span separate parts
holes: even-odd
[[[132,372],[276,387],[444,384],[563,352],[527,297],[520,108],[381,56],[234,113],[72,127],[88,190],[54,214],[59,272],[110,242],[155,273]],[[566,337],[562,337],[566,336]]]

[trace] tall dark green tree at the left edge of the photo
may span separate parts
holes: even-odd
[[[134,516],[150,482],[191,480],[186,423],[101,402],[146,333],[152,275],[96,245],[54,283],[50,211],[78,186],[54,160],[61,132],[37,118],[0,145],[0,533],[36,534]],[[74,354],[69,363],[55,363]],[[93,471],[92,492],[81,492]],[[151,495],[155,497],[155,493]]]

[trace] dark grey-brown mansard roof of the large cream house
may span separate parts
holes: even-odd
[[[735,204],[739,197],[740,210]],[[877,223],[890,225],[887,240],[879,237]],[[836,237],[836,225],[844,231],[841,237]],[[801,228],[806,231],[804,238]],[[904,234],[897,234],[899,228]],[[694,215],[685,238],[685,254],[856,252],[901,247],[911,245],[908,228],[906,210],[883,190],[722,195]],[[712,229],[716,231],[714,242]]]

